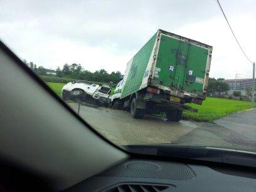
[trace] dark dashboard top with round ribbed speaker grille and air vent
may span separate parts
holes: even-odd
[[[128,159],[65,192],[256,191],[255,170],[242,166],[206,166]]]

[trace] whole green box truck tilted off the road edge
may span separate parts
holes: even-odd
[[[186,103],[201,105],[206,97],[212,46],[159,29],[127,63],[111,97],[115,109],[166,113],[179,121],[183,110],[197,112]]]

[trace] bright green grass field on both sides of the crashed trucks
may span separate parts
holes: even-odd
[[[65,83],[47,83],[49,87],[60,96],[61,88]],[[113,92],[112,88],[111,92]],[[190,112],[184,110],[183,119],[194,120],[202,122],[213,122],[213,120],[223,117],[233,112],[238,112],[246,109],[250,109],[251,103],[242,100],[230,100],[230,99],[219,99],[213,97],[207,97],[203,101],[202,105],[188,104],[193,108],[198,109],[198,112]]]

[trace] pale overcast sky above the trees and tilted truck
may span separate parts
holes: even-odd
[[[220,0],[240,44],[256,60],[256,1]],[[176,33],[213,46],[210,77],[252,77],[215,0],[1,0],[0,38],[21,59],[55,69],[80,63],[94,72],[124,73],[126,63],[156,33]]]

